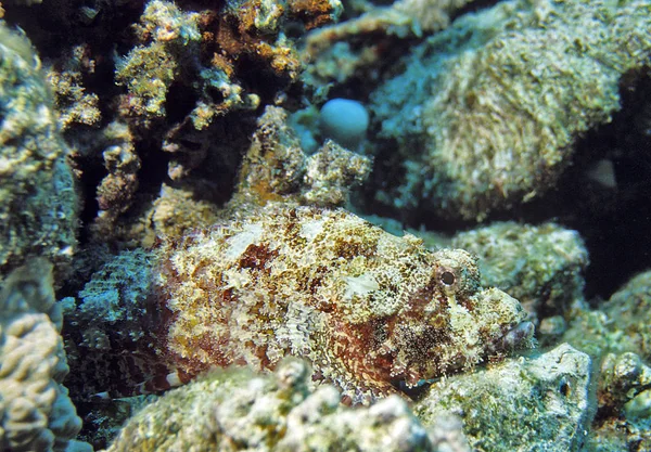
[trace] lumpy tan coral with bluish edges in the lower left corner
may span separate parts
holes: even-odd
[[[74,441],[81,419],[61,384],[68,366],[52,266],[31,260],[14,270],[2,285],[0,312],[0,449],[91,450]]]

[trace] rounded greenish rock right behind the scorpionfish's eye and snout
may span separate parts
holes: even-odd
[[[486,284],[518,298],[536,324],[583,299],[588,253],[576,231],[497,222],[457,234],[451,246],[475,253]]]

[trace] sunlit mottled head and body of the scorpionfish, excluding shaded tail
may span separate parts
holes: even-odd
[[[532,337],[518,300],[480,287],[471,255],[431,253],[341,209],[269,206],[157,254],[168,310],[158,353],[181,380],[292,354],[366,403]]]

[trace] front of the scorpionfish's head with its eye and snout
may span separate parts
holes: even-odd
[[[430,267],[388,328],[392,378],[413,387],[533,345],[525,310],[507,293],[481,286],[476,257],[442,249]]]

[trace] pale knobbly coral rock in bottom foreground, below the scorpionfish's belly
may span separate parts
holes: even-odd
[[[371,408],[342,406],[333,387],[310,390],[309,375],[293,360],[273,376],[215,372],[142,409],[107,452],[469,450],[458,425],[457,437],[427,431],[397,397]]]

